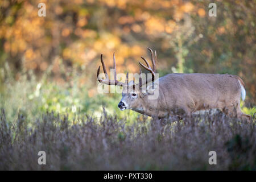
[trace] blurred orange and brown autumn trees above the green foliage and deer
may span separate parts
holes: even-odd
[[[38,16],[40,2],[46,17]],[[60,80],[60,64],[77,65],[86,74],[82,82],[95,85],[100,53],[112,60],[116,52],[118,72],[138,72],[139,57],[151,47],[162,75],[236,74],[255,103],[256,2],[216,1],[217,17],[209,17],[210,2],[0,0],[0,66],[40,73],[52,65]]]

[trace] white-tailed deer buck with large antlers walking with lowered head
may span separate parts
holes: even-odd
[[[199,110],[219,109],[230,117],[250,118],[250,115],[242,113],[240,108],[240,97],[245,100],[245,84],[240,77],[228,74],[171,73],[156,81],[154,80],[156,51],[153,53],[150,48],[148,50],[151,53],[152,68],[144,57],[142,59],[146,65],[140,62],[139,64],[150,71],[152,80],[142,80],[140,69],[138,84],[135,84],[134,81],[128,82],[128,73],[125,82],[117,81],[114,55],[114,80],[110,80],[101,55],[101,64],[106,78],[102,80],[98,76],[99,67],[97,79],[102,84],[123,87],[122,99],[118,104],[119,109],[131,109],[158,118],[167,117],[177,111],[183,111],[184,114],[190,116]],[[148,84],[151,81],[154,81],[154,84]],[[142,89],[143,86],[146,90]],[[127,92],[127,89],[131,92]],[[158,97],[154,100],[149,99],[150,94],[156,89],[158,89]]]

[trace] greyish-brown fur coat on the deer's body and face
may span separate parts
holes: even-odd
[[[172,111],[191,115],[204,109],[219,109],[230,117],[248,118],[250,115],[242,113],[240,108],[238,80],[245,85],[240,77],[228,74],[172,73],[159,78],[156,100],[148,100],[147,94],[135,88],[137,98],[123,93],[121,101],[126,102],[127,109],[158,118],[167,117]]]

